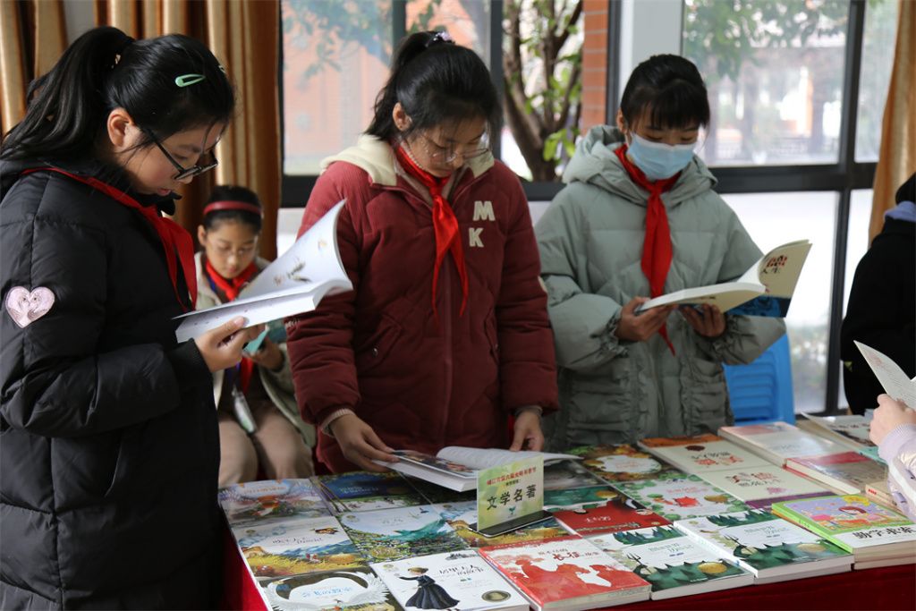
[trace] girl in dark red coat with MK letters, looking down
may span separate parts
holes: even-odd
[[[322,163],[300,228],[346,199],[354,291],[287,322],[319,459],[379,471],[392,449],[540,450],[540,414],[556,408],[551,330],[528,204],[488,147],[490,74],[447,34],[420,32],[375,110],[356,146]]]

